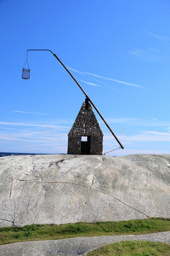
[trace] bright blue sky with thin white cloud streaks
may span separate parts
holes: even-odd
[[[84,102],[77,84],[124,149],[111,155],[169,154],[169,0],[0,0],[0,151],[66,153]],[[104,133],[104,153],[118,148]]]

